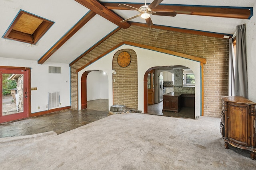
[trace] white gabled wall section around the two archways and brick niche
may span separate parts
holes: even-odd
[[[117,49],[114,49],[95,63],[90,64],[80,72],[78,72],[78,108],[81,109],[81,76],[83,72],[88,70],[104,70],[108,74],[108,99],[109,109],[113,102],[113,86],[112,86],[112,59],[114,54],[121,49],[133,49],[137,54],[138,60],[138,109],[144,112],[144,87],[143,78],[145,72],[154,66],[166,66],[166,65],[183,65],[191,68],[195,74],[196,87],[195,87],[195,116],[201,114],[201,75],[200,75],[200,63],[173,55],[159,53],[156,51],[142,49],[139,47],[133,47],[129,45],[122,45]],[[156,58],[157,56],[157,58]]]

